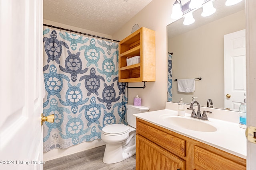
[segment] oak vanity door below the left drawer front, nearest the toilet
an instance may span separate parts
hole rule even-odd
[[[136,170],[185,170],[186,161],[136,135]]]

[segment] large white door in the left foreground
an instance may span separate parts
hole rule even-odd
[[[0,1],[0,169],[43,169],[42,0]]]

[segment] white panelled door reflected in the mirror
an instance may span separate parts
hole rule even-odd
[[[246,94],[245,29],[224,35],[224,79],[224,107],[239,110]]]

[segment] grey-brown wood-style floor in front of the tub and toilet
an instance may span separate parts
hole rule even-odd
[[[44,170],[135,170],[136,155],[115,164],[102,162],[106,145],[46,161]]]

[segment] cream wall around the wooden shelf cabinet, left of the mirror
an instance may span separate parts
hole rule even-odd
[[[112,35],[113,39],[122,40],[130,35],[132,26],[138,24],[156,32],[156,81],[146,82],[145,89],[128,89],[128,103],[133,98],[142,98],[142,105],[150,107],[150,111],[164,109],[167,101],[167,32],[166,25],[171,23],[172,5],[175,0],[152,0],[134,18],[128,21],[119,31]],[[143,86],[143,83],[128,83],[128,86]]]

